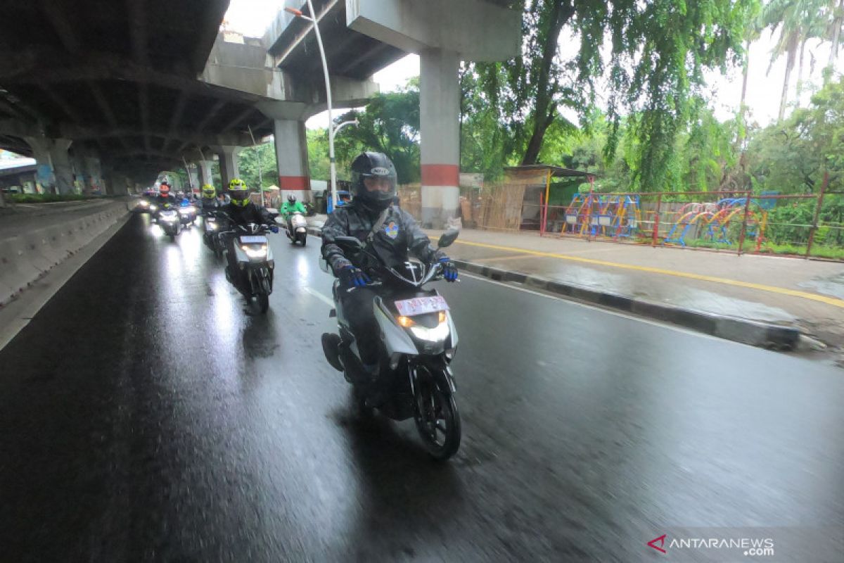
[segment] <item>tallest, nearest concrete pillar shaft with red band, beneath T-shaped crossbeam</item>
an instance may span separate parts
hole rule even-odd
[[[457,216],[460,190],[460,84],[457,53],[419,53],[422,225],[440,229]]]

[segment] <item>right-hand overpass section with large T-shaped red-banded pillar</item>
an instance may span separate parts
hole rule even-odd
[[[509,4],[506,0],[313,0],[333,80],[364,80],[408,52],[419,54],[425,224],[439,226],[457,212],[460,61],[506,60],[521,48],[521,14],[508,9]],[[288,0],[286,5],[310,13],[302,0]],[[263,37],[273,66],[294,83],[322,82],[312,25],[281,12]],[[291,145],[284,150],[300,148]]]

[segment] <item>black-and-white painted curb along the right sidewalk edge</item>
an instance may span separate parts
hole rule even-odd
[[[465,260],[455,258],[452,258],[452,262],[457,264],[458,268],[469,273],[484,276],[495,281],[524,284],[536,290],[564,295],[565,297],[609,307],[618,311],[633,313],[641,317],[651,317],[659,321],[671,322],[681,327],[691,328],[701,333],[733,340],[741,344],[749,344],[766,349],[792,350],[797,347],[800,339],[798,328],[783,327],[738,317],[726,317],[704,311],[694,311],[677,306],[637,300],[627,295],[592,290],[580,285],[566,284],[555,279],[541,278],[527,273],[512,272],[500,268],[491,268],[490,266],[466,262]]]

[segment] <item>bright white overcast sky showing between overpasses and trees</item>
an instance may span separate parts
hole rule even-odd
[[[284,8],[284,0],[231,0],[229,11],[225,19],[231,30],[240,31],[244,35],[262,36],[268,23],[275,14]],[[766,32],[759,41],[750,47],[750,74],[748,81],[747,104],[751,111],[751,119],[760,125],[767,125],[776,119],[779,108],[782,80],[785,77],[785,57],[780,57],[766,75],[770,61],[771,47],[774,44],[771,33]],[[330,38],[325,38],[330,41]],[[576,48],[571,41],[560,41],[560,53],[565,57],[571,48]],[[829,46],[818,46],[817,41],[810,41],[806,47],[806,61],[804,74],[814,84],[820,84],[821,69],[824,68],[829,57]],[[809,75],[809,53],[814,54],[814,73]],[[838,70],[841,71],[844,57],[839,57]],[[376,73],[373,77],[381,87],[381,92],[389,92],[403,86],[408,78],[419,75],[419,57],[408,55],[398,62]],[[738,108],[741,96],[741,69],[734,68],[727,76],[712,73],[710,89],[712,91],[711,105],[719,119],[727,119]],[[794,85],[797,84],[797,68],[792,73],[792,83],[789,89],[789,100],[793,100]],[[801,100],[803,106],[809,103],[810,93],[807,91]],[[790,111],[790,110],[789,110]],[[573,116],[569,116],[570,118]],[[326,127],[327,114],[323,113],[311,117],[308,127]]]

